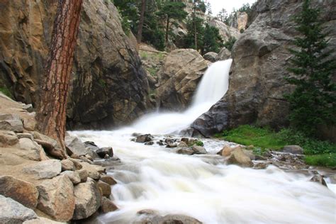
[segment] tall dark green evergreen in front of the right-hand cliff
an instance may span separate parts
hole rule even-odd
[[[318,125],[335,124],[336,115],[336,85],[332,82],[336,61],[332,50],[327,50],[327,33],[323,33],[319,16],[320,9],[313,9],[310,0],[303,1],[302,11],[293,16],[301,35],[293,42],[298,50],[289,49],[292,76],[286,77],[296,86],[286,95],[291,125],[308,135],[315,135]]]

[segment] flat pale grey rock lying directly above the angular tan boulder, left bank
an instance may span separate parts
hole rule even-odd
[[[56,177],[62,171],[60,160],[49,159],[35,164],[27,165],[23,168],[26,174],[32,174],[35,179],[50,179]]]

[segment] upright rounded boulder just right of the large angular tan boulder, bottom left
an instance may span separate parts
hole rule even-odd
[[[88,179],[86,183],[74,186],[74,196],[74,220],[88,218],[101,206],[101,194],[92,179]]]

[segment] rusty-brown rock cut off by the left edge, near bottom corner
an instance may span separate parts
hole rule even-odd
[[[15,177],[0,177],[0,194],[28,208],[35,208],[38,204],[38,189],[33,184]]]

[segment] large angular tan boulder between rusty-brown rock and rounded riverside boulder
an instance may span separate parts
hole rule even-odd
[[[45,180],[38,186],[38,209],[55,218],[67,222],[74,213],[74,186],[66,175]]]

